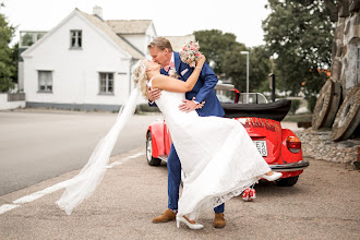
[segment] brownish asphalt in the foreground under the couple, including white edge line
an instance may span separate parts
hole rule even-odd
[[[254,202],[226,202],[225,228],[213,227],[208,211],[194,231],[152,224],[167,207],[167,169],[148,166],[140,147],[113,156],[101,184],[70,216],[55,204],[63,192],[56,187],[77,171],[0,196],[0,239],[360,239],[360,172],[309,160],[295,187],[260,182]]]

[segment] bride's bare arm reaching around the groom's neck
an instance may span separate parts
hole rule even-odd
[[[205,57],[202,55],[201,58],[196,61],[196,67],[189,76],[189,79],[187,80],[187,82],[166,75],[156,75],[152,82],[153,88],[159,88],[176,93],[187,93],[192,91],[192,88],[195,86],[197,82],[204,62],[205,62]]]

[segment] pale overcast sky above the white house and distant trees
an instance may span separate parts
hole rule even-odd
[[[104,20],[153,20],[157,35],[181,36],[201,29],[232,33],[253,47],[264,44],[262,21],[267,0],[0,0],[8,21],[19,31],[50,31],[75,8],[93,13],[103,8]]]

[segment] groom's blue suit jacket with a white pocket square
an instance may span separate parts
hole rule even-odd
[[[181,76],[182,81],[187,81],[191,73],[194,71],[194,68],[191,68],[189,64],[184,63],[180,59],[180,55],[177,51],[173,51],[175,68],[178,74]],[[161,69],[160,73],[168,75],[168,73]],[[203,69],[200,73],[199,80],[192,91],[185,93],[185,98],[192,100],[195,97],[195,100],[202,103],[205,100],[205,105],[201,109],[196,109],[199,116],[217,116],[223,117],[225,115],[220,101],[217,99],[214,92],[214,87],[217,84],[218,79],[209,65],[205,62]]]

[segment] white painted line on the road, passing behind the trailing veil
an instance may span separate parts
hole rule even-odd
[[[106,168],[112,168],[115,166],[119,166],[119,165],[122,165],[124,161],[127,160],[130,160],[130,159],[133,159],[133,158],[136,158],[136,157],[140,157],[144,155],[144,153],[137,153],[137,154],[134,154],[132,156],[129,156],[129,157],[125,157],[123,158],[122,160],[118,160],[118,161],[113,161],[112,164],[106,166]],[[35,193],[32,193],[29,195],[26,195],[26,196],[23,196],[23,197],[20,197],[19,200],[15,200],[13,201],[12,203],[13,204],[3,204],[0,206],[0,215],[3,214],[3,213],[7,213],[8,211],[11,211],[11,209],[14,209],[19,206],[21,206],[22,204],[25,204],[25,203],[31,203],[37,199],[40,199],[47,194],[50,194],[52,192],[56,192],[60,189],[64,189],[67,188],[70,183],[71,183],[72,179],[69,179],[69,180],[65,180],[65,181],[62,181],[62,182],[59,182],[55,185],[51,185],[49,188],[46,188],[41,191],[38,191],[38,192],[35,192]]]

